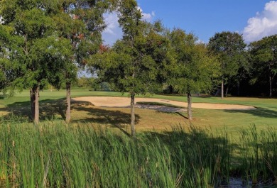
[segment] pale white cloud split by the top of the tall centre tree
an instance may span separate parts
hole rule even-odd
[[[152,21],[152,18],[155,16],[155,13],[153,11],[151,13],[143,13],[141,7],[138,7],[138,9],[141,11],[143,15],[143,20]],[[105,13],[104,21],[107,25],[106,29],[102,34],[104,44],[112,45],[116,42],[116,40],[122,37],[122,30],[119,27],[118,22],[119,18],[115,12]]]

